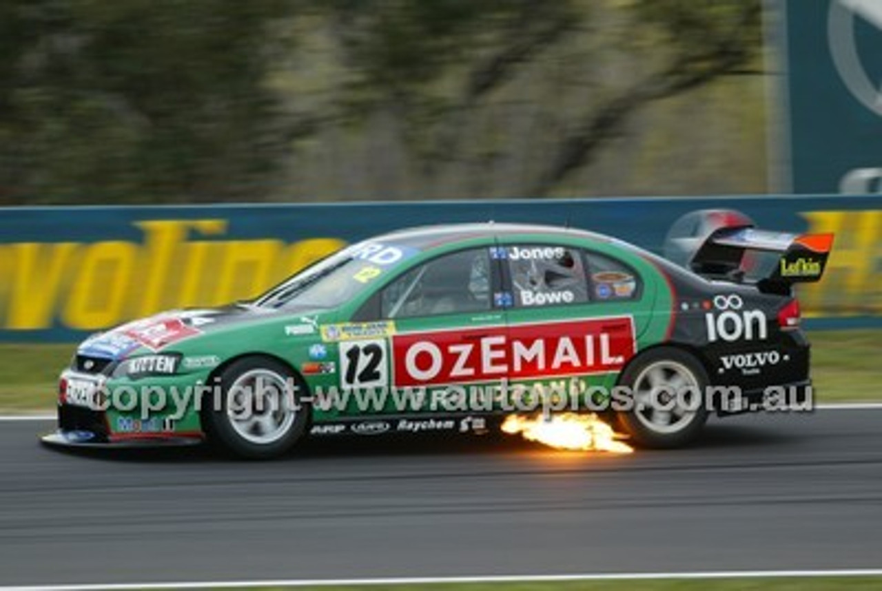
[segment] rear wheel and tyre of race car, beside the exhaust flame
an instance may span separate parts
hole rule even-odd
[[[638,445],[679,447],[698,437],[706,423],[707,373],[683,350],[647,351],[624,370],[619,383],[631,389],[634,401],[619,422]]]

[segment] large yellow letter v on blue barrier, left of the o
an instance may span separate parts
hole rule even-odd
[[[6,328],[33,330],[52,325],[59,288],[77,249],[77,243],[6,246],[11,261]]]

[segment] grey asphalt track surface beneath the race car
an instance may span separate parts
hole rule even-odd
[[[0,585],[882,565],[882,410],[712,420],[627,456],[517,438],[64,453],[0,422]]]

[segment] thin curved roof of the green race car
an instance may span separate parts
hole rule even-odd
[[[543,234],[549,237],[578,237],[604,243],[612,241],[609,236],[595,234],[594,232],[588,232],[579,228],[561,228],[559,226],[543,226],[540,224],[496,223],[492,221],[404,228],[383,236],[377,236],[374,240],[397,243],[402,246],[411,246],[422,250],[436,248],[469,238],[525,234]]]

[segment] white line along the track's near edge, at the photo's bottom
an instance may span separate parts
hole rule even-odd
[[[130,591],[133,589],[205,589],[243,587],[369,587],[377,585],[426,585],[451,583],[530,583],[579,580],[695,580],[695,579],[781,579],[786,577],[878,577],[882,568],[812,571],[709,571],[709,572],[609,572],[597,574],[478,575],[464,577],[390,577],[377,579],[281,579],[191,581],[177,583],[107,583],[101,585],[34,585],[0,587],[0,591]]]

